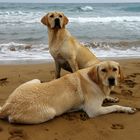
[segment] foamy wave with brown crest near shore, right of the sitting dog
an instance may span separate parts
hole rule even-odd
[[[140,58],[140,41],[91,42],[84,44],[97,57]]]

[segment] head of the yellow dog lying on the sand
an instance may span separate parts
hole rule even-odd
[[[116,86],[118,79],[123,80],[121,67],[115,61],[100,62],[89,71],[88,75],[95,83],[108,87]]]

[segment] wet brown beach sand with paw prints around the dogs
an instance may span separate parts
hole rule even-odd
[[[123,67],[125,80],[111,95],[119,97],[117,104],[140,110],[140,59],[117,61]],[[43,82],[54,79],[54,64],[0,65],[0,105],[17,86],[35,78]],[[39,125],[0,120],[0,140],[140,140],[140,112],[112,113],[93,119],[84,112],[75,112]]]

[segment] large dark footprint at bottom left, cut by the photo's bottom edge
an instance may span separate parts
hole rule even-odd
[[[26,133],[20,128],[10,128],[9,134],[11,135],[8,140],[27,140]]]

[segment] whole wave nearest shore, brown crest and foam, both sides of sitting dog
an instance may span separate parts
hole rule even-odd
[[[97,57],[140,57],[140,41],[83,43]],[[0,61],[53,60],[48,45],[9,42],[0,44]]]

